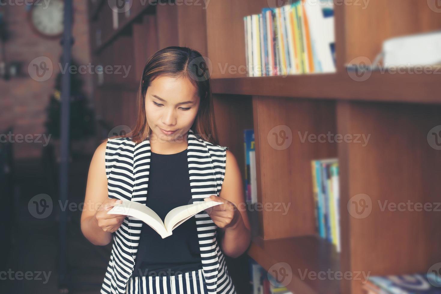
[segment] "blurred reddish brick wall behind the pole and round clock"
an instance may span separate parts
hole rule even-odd
[[[10,1],[9,1],[10,2]],[[9,3],[8,2],[8,3]],[[45,140],[40,134],[45,133],[45,108],[53,93],[56,75],[60,72],[58,65],[62,53],[60,40],[47,40],[35,34],[27,21],[28,7],[25,1],[16,1],[15,5],[3,7],[6,9],[6,21],[10,39],[5,46],[6,61],[18,60],[23,62],[23,77],[12,78],[9,81],[0,80],[0,132],[14,127],[15,158],[37,157],[41,155]],[[75,44],[72,56],[78,65],[90,63],[89,28],[87,18],[87,0],[75,0],[74,25],[72,28]],[[50,78],[38,82],[28,73],[28,65],[37,57],[48,57],[52,61],[53,72]],[[84,92],[91,100],[93,96],[92,78],[90,74],[81,74],[84,80]],[[20,137],[32,138],[19,142]],[[4,136],[2,137],[4,138]],[[46,138],[50,138],[46,136]],[[9,139],[8,139],[9,140]]]

